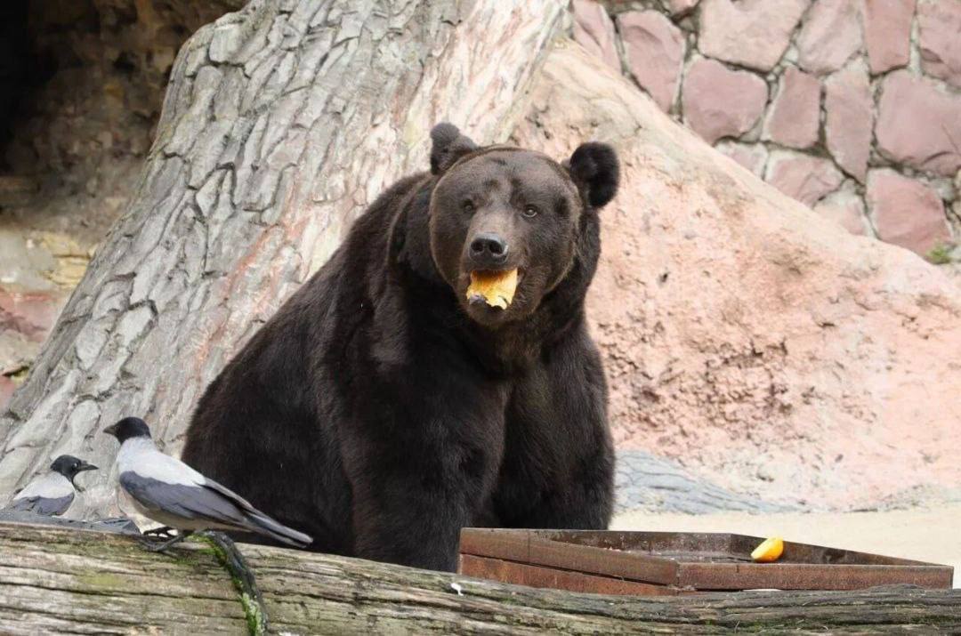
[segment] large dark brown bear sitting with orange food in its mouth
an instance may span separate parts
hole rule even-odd
[[[584,295],[619,169],[601,143],[431,139],[209,385],[184,459],[311,550],[454,570],[464,526],[610,520]]]

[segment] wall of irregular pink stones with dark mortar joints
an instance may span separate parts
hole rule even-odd
[[[574,0],[574,36],[849,232],[961,260],[961,0]]]

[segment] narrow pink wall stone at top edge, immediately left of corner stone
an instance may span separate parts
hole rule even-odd
[[[910,59],[915,0],[864,0],[864,39],[872,73],[904,66]]]

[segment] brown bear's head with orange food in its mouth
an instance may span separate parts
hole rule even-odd
[[[434,127],[431,140],[437,271],[480,325],[524,319],[584,256],[581,234],[597,229],[585,216],[614,197],[617,155],[603,143],[584,143],[558,163],[521,148],[479,148],[446,123]]]

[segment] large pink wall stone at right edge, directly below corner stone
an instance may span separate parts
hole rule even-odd
[[[912,167],[953,177],[961,167],[961,95],[895,71],[884,80],[875,135],[881,152]]]

